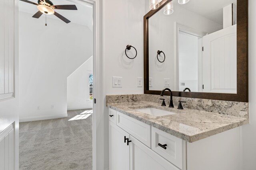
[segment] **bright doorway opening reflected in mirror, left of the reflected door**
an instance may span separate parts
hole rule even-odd
[[[189,88],[192,92],[202,92],[202,37],[184,30],[178,35],[178,86],[179,91]]]

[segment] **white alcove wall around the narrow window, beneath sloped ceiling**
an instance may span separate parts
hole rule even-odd
[[[68,110],[92,108],[92,100],[89,100],[89,73],[92,71],[93,57],[90,57],[68,76]]]

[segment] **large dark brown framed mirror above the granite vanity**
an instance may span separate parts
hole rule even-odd
[[[247,0],[162,0],[144,16],[144,92],[248,101],[247,9]]]

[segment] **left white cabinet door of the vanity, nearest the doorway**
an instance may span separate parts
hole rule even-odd
[[[109,168],[110,170],[129,170],[129,146],[124,137],[129,134],[109,121]]]

